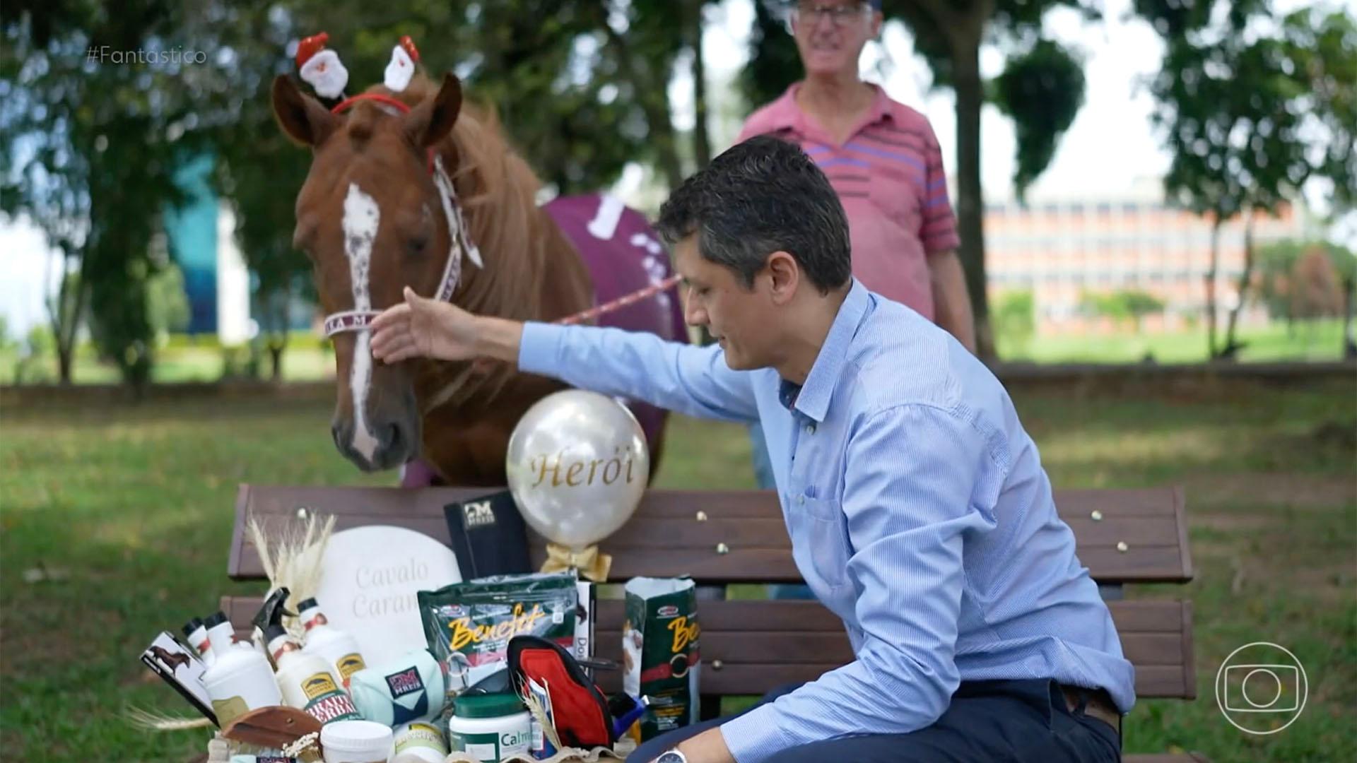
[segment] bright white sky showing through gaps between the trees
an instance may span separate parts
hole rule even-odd
[[[1303,5],[1301,0],[1277,0],[1281,11]],[[1357,10],[1357,0],[1333,3]],[[1163,45],[1153,30],[1126,15],[1130,0],[1103,0],[1106,20],[1084,23],[1073,11],[1048,14],[1048,33],[1077,49],[1086,62],[1087,95],[1075,124],[1065,134],[1056,157],[1033,189],[1034,197],[1045,196],[1121,196],[1133,186],[1158,182],[1168,166],[1168,156],[1149,125],[1153,102],[1141,80],[1159,65]],[[711,24],[704,33],[703,50],[710,79],[722,81],[744,64],[750,0],[723,0],[710,11]],[[878,76],[878,64],[886,60]],[[985,76],[1001,71],[1003,54],[995,49],[981,52]],[[955,170],[955,113],[950,92],[930,92],[931,73],[923,58],[915,56],[913,41],[900,24],[889,24],[879,45],[863,54],[867,77],[886,92],[923,111],[942,143],[947,172]],[[691,77],[676,77],[670,95],[680,126],[692,124]],[[729,140],[716,129],[714,137]],[[988,200],[1011,196],[1014,172],[1014,128],[995,107],[987,106],[981,124],[981,176]],[[714,147],[718,151],[723,144]],[[1314,198],[1322,204],[1322,198]],[[1357,228],[1357,227],[1354,227]],[[1345,239],[1357,239],[1357,229]],[[11,334],[26,331],[42,319],[42,278],[46,270],[43,239],[31,228],[0,223],[0,314],[9,322]]]

